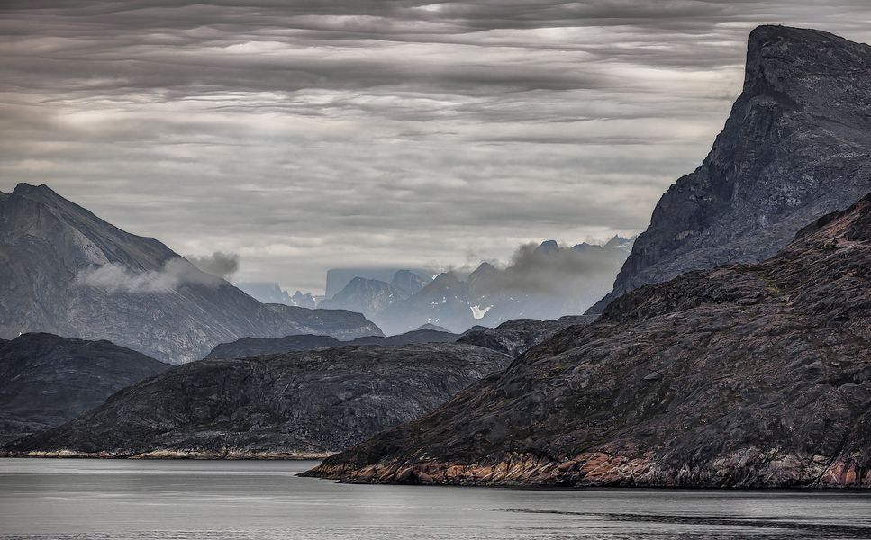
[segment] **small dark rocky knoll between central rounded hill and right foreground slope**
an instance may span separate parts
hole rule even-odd
[[[458,338],[457,342],[492,348],[494,351],[516,357],[563,329],[590,324],[595,317],[595,315],[577,315],[560,317],[558,320],[509,320],[494,329],[485,327],[469,329]]]

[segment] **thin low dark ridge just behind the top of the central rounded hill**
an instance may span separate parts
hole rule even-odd
[[[458,334],[431,329],[420,329],[397,336],[364,336],[346,342],[346,345],[413,345],[417,343],[453,343]],[[285,336],[284,338],[241,338],[232,343],[214,347],[205,358],[244,358],[246,356],[278,355],[295,351],[309,351],[322,347],[337,347],[340,342],[330,336]],[[476,344],[471,344],[476,345]]]

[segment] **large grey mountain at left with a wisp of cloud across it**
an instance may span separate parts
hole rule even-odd
[[[0,196],[0,338],[109,339],[172,364],[241,337],[380,335],[358,313],[262,304],[47,186]]]

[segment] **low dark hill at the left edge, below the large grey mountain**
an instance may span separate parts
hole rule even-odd
[[[52,334],[0,340],[0,442],[75,419],[168,368],[108,341]]]

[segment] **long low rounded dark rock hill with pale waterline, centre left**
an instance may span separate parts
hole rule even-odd
[[[203,360],[135,384],[68,424],[4,449],[10,455],[326,455],[433,410],[510,361],[456,344]]]

